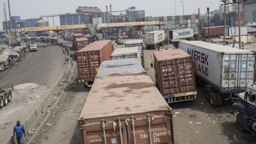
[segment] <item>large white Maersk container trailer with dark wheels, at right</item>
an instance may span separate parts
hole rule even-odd
[[[204,41],[178,45],[193,57],[196,81],[207,85],[205,98],[212,107],[220,107],[223,100],[237,100],[237,94],[254,84],[254,52]]]

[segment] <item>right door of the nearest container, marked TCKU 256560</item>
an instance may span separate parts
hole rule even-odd
[[[158,117],[155,119],[139,119],[134,122],[134,129],[132,120],[127,125],[128,143],[174,143],[172,135],[171,118]],[[150,125],[150,126],[149,126]]]

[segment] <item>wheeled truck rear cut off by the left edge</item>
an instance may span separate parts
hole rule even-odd
[[[0,88],[0,108],[5,107],[12,99],[11,88]]]

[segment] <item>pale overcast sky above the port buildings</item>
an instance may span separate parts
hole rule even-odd
[[[175,15],[175,0],[9,0],[11,4],[11,15],[19,15],[21,18],[37,18],[39,15],[63,14],[75,12],[78,6],[99,7],[105,11],[105,5],[112,5],[113,11],[123,10],[135,6],[136,9],[145,10],[146,16],[168,16]],[[3,3],[7,0],[0,0],[0,21],[3,17]],[[200,8],[201,13],[207,7],[211,10],[219,9],[220,0],[183,0],[185,14],[194,14]],[[109,7],[108,7],[109,9]],[[8,6],[7,6],[8,13]],[[180,0],[177,0],[177,15],[183,14],[183,7]],[[2,23],[0,24],[2,30]]]

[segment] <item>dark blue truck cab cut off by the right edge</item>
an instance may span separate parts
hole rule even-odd
[[[249,130],[256,133],[256,86],[248,87],[247,91],[238,94],[238,102],[232,104],[236,123],[242,132]]]

